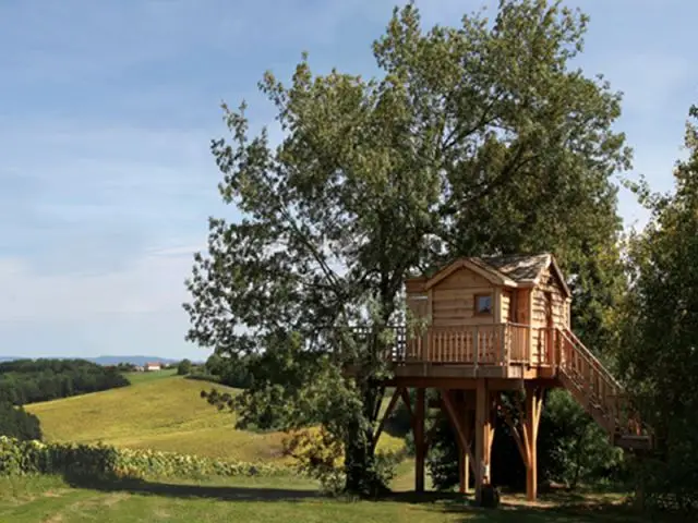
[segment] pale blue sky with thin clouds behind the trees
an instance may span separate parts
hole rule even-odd
[[[288,78],[303,50],[316,71],[371,73],[394,3],[2,0],[0,354],[205,357],[181,303],[207,217],[234,217],[208,151],[219,102],[269,123],[256,82]],[[418,4],[425,25],[455,25],[495,2]],[[591,16],[579,63],[625,93],[633,174],[669,190],[698,102],[698,3],[568,4]],[[621,211],[646,219],[625,193]]]

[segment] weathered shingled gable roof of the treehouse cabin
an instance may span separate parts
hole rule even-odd
[[[563,287],[563,291],[568,296],[571,295],[565,278],[555,262],[555,257],[550,253],[458,258],[436,271],[425,282],[424,288],[433,287],[461,267],[467,267],[480,273],[493,283],[508,287],[537,285],[540,283],[543,271],[550,267]]]

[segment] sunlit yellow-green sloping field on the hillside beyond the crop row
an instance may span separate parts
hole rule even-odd
[[[26,410],[41,422],[48,441],[103,441],[249,462],[282,460],[282,433],[237,430],[234,417],[201,399],[202,389],[236,389],[185,379],[173,372],[139,373],[119,389],[34,403]],[[402,441],[384,435],[380,448]]]

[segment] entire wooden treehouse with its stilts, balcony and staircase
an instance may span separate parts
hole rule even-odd
[[[414,321],[389,355],[394,376],[385,385],[395,393],[376,440],[402,399],[412,416],[418,491],[424,488],[430,439],[424,419],[433,406],[457,435],[460,489],[466,491],[472,473],[478,499],[490,483],[497,412],[526,465],[528,498],[535,499],[535,442],[545,389],[568,389],[615,445],[636,450],[651,445],[628,413],[622,387],[571,331],[571,293],[551,254],[461,258],[405,284]],[[438,391],[435,405],[425,404],[429,388]],[[410,404],[409,389],[417,390],[416,404]],[[510,390],[524,392],[518,409],[501,401],[502,392]]]

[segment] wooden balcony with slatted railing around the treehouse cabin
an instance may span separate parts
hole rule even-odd
[[[396,377],[550,378],[559,361],[556,329],[504,323],[398,332]]]

